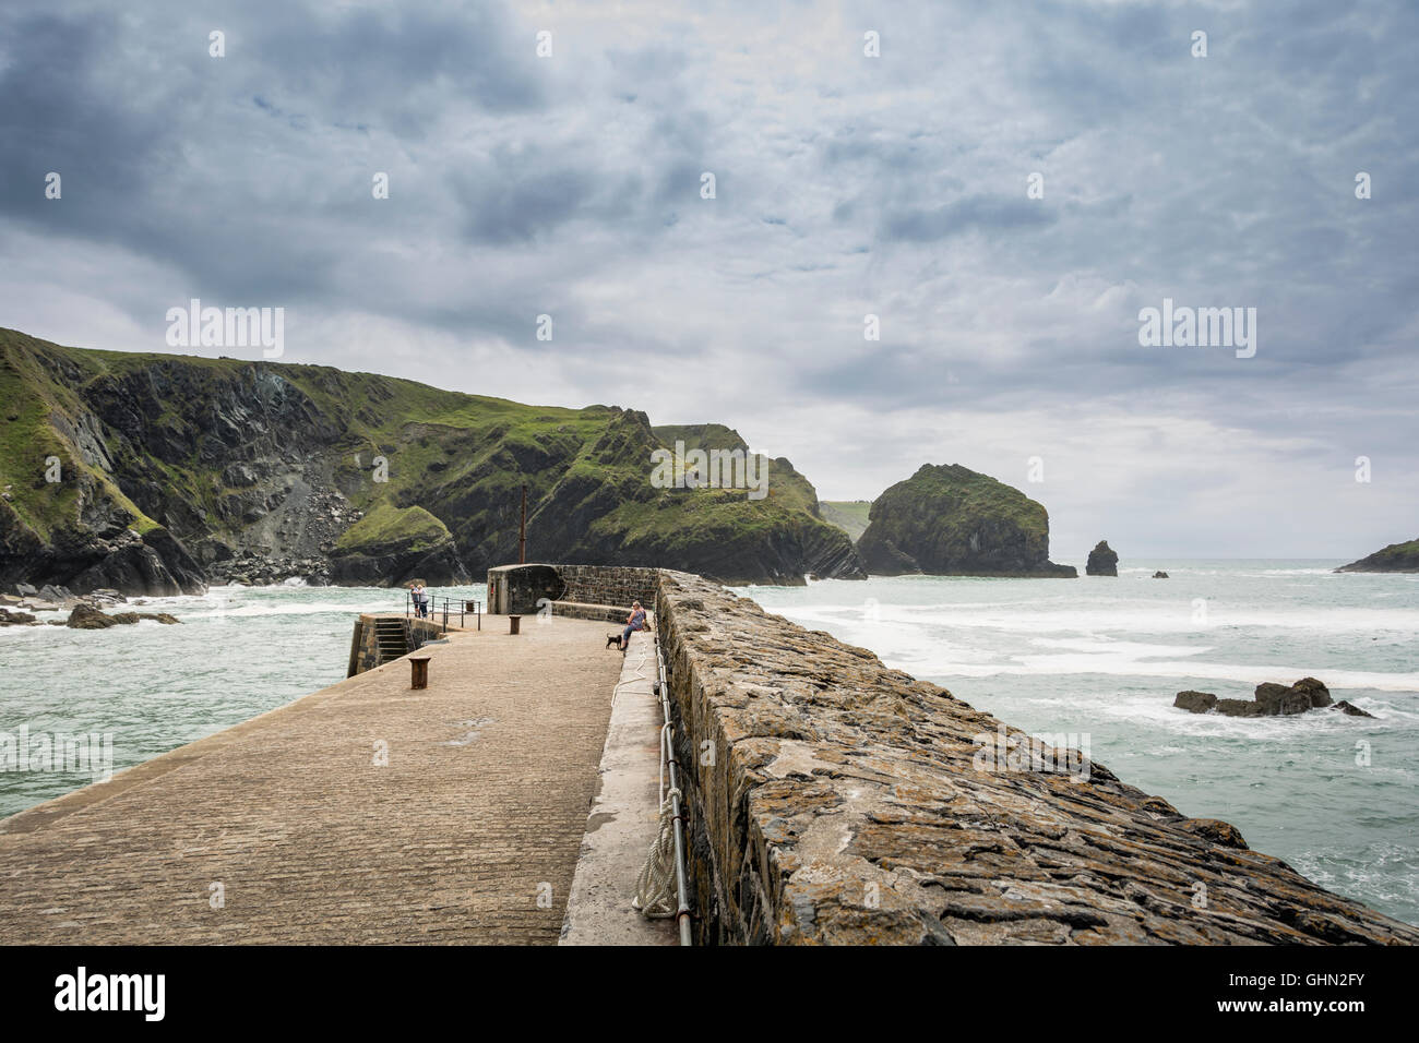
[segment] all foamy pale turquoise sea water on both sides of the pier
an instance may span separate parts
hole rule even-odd
[[[741,593],[1012,725],[1084,735],[1125,782],[1419,922],[1419,576],[1330,572],[1340,563],[1151,562],[1118,579],[910,576]],[[1149,579],[1155,568],[1171,579]],[[219,587],[149,602],[180,627],[7,627],[0,732],[109,732],[114,768],[139,763],[342,680],[355,614],[402,605],[402,592],[370,587]],[[1250,698],[1260,681],[1307,674],[1378,719],[1172,708],[1182,688]],[[0,773],[0,816],[88,780]]]

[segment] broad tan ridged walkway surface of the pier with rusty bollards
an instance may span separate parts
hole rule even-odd
[[[484,620],[0,822],[0,944],[555,944],[622,656]]]

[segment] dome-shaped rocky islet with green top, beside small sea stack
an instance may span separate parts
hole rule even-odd
[[[1050,522],[1023,492],[959,464],[922,464],[873,501],[857,553],[873,575],[1076,576],[1049,561]]]

